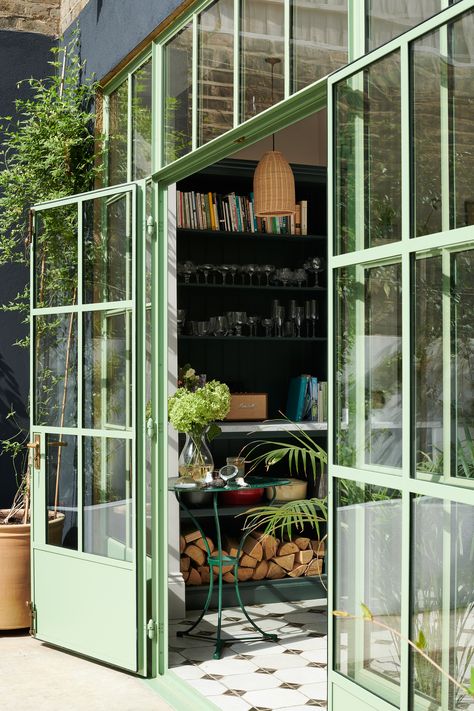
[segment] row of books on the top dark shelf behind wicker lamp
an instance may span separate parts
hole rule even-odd
[[[178,190],[178,228],[222,232],[263,232],[267,234],[308,234],[308,203],[301,200],[295,214],[288,217],[256,217],[253,193],[199,193]]]

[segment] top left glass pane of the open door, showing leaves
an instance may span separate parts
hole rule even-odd
[[[77,304],[77,205],[36,213],[35,306]]]

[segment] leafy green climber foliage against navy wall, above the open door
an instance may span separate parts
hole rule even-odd
[[[101,171],[97,160],[101,147],[93,134],[97,84],[84,79],[78,49],[77,32],[68,45],[52,49],[52,75],[26,80],[31,95],[16,100],[18,118],[1,120],[5,138],[0,151],[0,266],[27,262],[23,246],[32,205],[90,190]],[[65,221],[52,226],[53,235],[46,218],[38,250],[51,246],[53,236],[55,247],[63,257],[67,254],[75,224],[70,215],[63,217]],[[24,290],[3,308],[26,312],[28,298]]]

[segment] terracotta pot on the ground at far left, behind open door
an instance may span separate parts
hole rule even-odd
[[[0,515],[6,515],[2,509]],[[64,515],[49,522],[49,540],[60,545]],[[27,524],[0,524],[0,630],[30,626],[30,529]]]

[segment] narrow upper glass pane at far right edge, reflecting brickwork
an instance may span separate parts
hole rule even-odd
[[[474,12],[450,26],[451,227],[474,224]]]

